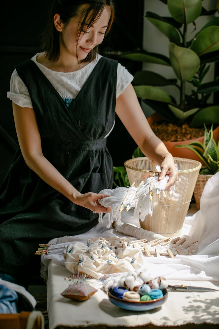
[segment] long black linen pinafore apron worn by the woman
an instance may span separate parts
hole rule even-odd
[[[115,120],[117,65],[101,57],[69,107],[32,60],[15,66],[31,97],[43,155],[81,193],[112,188],[104,136]],[[40,262],[34,255],[39,243],[84,233],[97,223],[97,214],[40,179],[17,148],[0,188],[1,273],[27,276]]]

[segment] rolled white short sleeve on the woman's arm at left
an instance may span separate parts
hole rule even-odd
[[[21,107],[33,108],[28,89],[19,77],[16,69],[11,74],[10,91],[7,92],[7,97]]]

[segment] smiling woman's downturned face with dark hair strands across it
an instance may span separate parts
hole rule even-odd
[[[81,32],[77,44],[77,57],[79,61],[85,59],[91,49],[103,41],[110,19],[110,13],[110,7],[106,6],[93,26],[88,30],[86,25],[84,27],[82,26],[83,32]],[[76,42],[80,25],[80,18],[76,16],[71,18],[68,25],[62,29],[60,36],[61,54],[62,52],[67,52],[76,57]]]

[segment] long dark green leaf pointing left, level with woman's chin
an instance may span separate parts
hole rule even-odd
[[[121,58],[127,58],[132,61],[155,63],[170,66],[168,57],[157,53],[132,53],[120,55]]]

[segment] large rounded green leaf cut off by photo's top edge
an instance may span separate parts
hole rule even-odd
[[[202,12],[201,0],[167,0],[167,6],[171,16],[184,24],[193,22]]]

